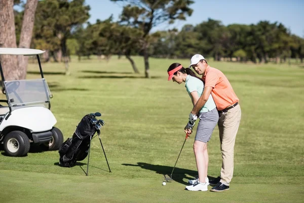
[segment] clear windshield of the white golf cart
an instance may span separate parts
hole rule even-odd
[[[47,81],[35,80],[11,80],[5,81],[6,95],[12,111],[25,106],[43,106],[48,108],[52,94]]]

